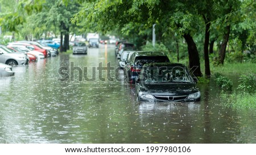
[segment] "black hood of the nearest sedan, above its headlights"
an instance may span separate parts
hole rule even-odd
[[[196,92],[197,89],[194,83],[144,83],[141,91],[152,95],[188,95]]]

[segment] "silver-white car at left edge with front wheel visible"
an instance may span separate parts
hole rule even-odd
[[[10,66],[27,65],[29,58],[24,53],[14,53],[0,45],[0,62]]]

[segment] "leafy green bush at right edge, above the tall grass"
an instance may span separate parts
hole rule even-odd
[[[256,77],[254,74],[242,74],[238,81],[237,89],[249,94],[256,93]]]

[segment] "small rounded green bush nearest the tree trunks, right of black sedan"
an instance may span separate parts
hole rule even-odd
[[[220,73],[214,74],[214,81],[216,82],[217,86],[220,87],[222,90],[232,90],[233,82],[226,76],[223,76]]]

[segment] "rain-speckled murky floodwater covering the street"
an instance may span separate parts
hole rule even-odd
[[[122,70],[97,69],[118,66],[114,45],[88,50],[0,77],[0,143],[256,143],[255,110],[222,107],[212,82],[200,102],[138,103]]]

